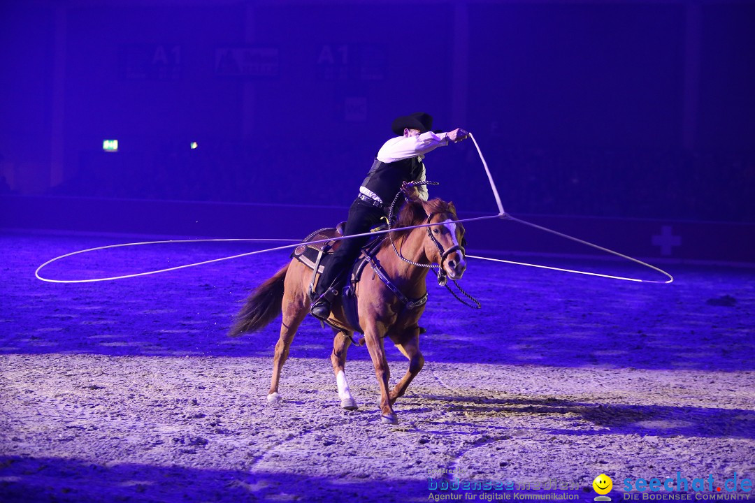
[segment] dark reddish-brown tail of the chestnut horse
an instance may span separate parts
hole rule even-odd
[[[273,278],[260,284],[248,296],[244,307],[236,314],[233,327],[228,331],[232,337],[240,336],[242,333],[257,332],[267,327],[276,316],[281,314],[281,303],[283,302],[283,284],[285,282],[288,265],[276,272]]]

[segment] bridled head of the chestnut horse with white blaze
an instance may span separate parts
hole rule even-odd
[[[399,212],[399,227],[410,225],[437,224],[414,229],[424,235],[424,256],[430,262],[439,264],[441,277],[458,280],[467,270],[464,257],[464,225],[458,220],[453,203],[441,199],[411,201]]]

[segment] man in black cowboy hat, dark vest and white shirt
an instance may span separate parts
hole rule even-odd
[[[439,146],[458,143],[468,136],[467,131],[461,128],[448,133],[433,131],[433,118],[424,112],[396,118],[391,129],[397,136],[388,140],[377,152],[367,177],[359,187],[359,195],[349,209],[344,236],[369,232],[381,220],[387,219],[390,201],[399,190],[408,198],[427,201],[425,186],[418,188],[410,183],[425,181],[424,156]],[[332,302],[344,284],[350,266],[368,241],[368,236],[342,241],[331,260],[325,263],[313,292],[310,313],[314,317],[323,321],[328,319]]]

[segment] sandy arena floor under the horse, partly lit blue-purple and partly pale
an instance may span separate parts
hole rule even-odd
[[[387,426],[365,348],[350,348],[360,408],[347,412],[331,331],[305,321],[285,401],[270,406],[279,322],[225,335],[286,253],[104,283],[34,278],[54,256],[123,241],[0,235],[0,501],[593,501],[599,474],[618,501],[625,479],[755,479],[753,269],[670,265],[676,281],[656,285],[470,260],[461,284],[483,308],[428,285],[427,363],[396,403],[399,425]],[[45,274],[117,275],[251,249],[131,247]],[[395,382],[406,362],[388,351]],[[577,489],[432,490],[454,483],[444,470]],[[716,494],[750,495],[738,487]]]

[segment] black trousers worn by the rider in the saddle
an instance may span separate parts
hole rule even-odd
[[[344,235],[351,236],[369,232],[371,228],[381,222],[381,217],[383,216],[386,216],[386,214],[381,208],[365,203],[361,199],[356,199],[349,208],[349,219],[346,221]],[[340,289],[346,283],[350,268],[359,256],[359,250],[368,241],[370,241],[370,236],[341,241],[340,247],[335,250],[330,261],[322,271],[319,281],[317,281],[317,287],[315,288],[316,296],[321,296],[331,286]]]

